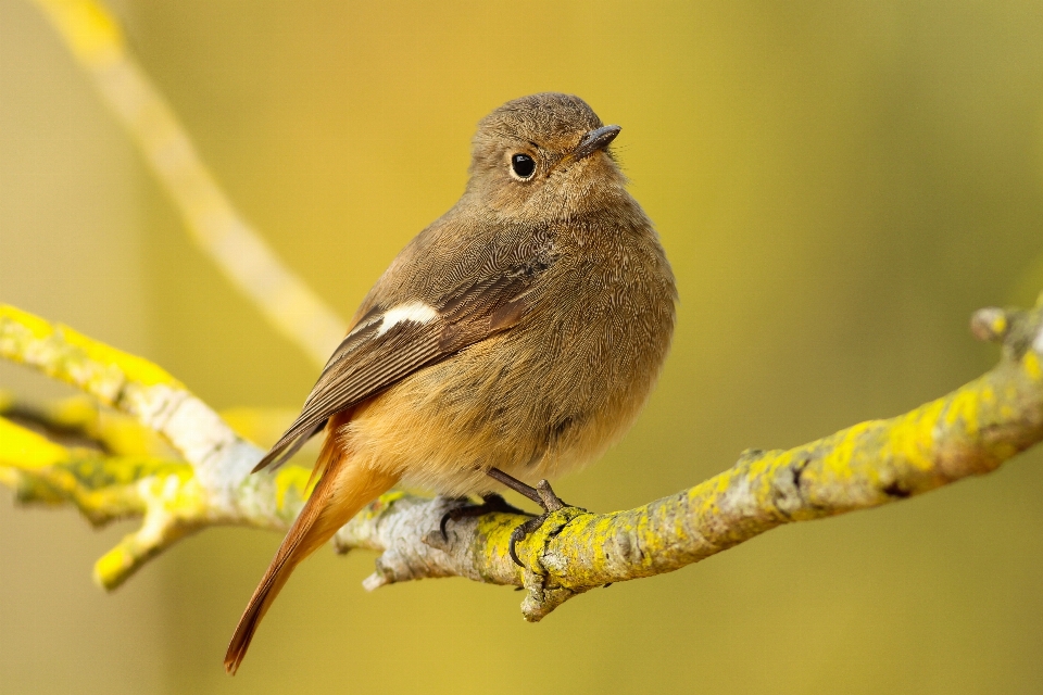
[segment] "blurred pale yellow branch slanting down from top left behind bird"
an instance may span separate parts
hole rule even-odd
[[[177,116],[128,53],[120,26],[92,0],[35,0],[141,151],[203,253],[319,367],[348,332],[343,320],[242,219]]]

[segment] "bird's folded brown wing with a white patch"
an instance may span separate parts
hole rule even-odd
[[[460,283],[437,302],[370,308],[334,351],[297,420],[253,470],[285,463],[332,415],[516,325],[548,267],[531,262],[508,265]]]

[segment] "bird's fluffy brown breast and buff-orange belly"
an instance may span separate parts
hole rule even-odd
[[[447,493],[491,466],[536,482],[602,453],[665,358],[674,282],[654,232],[555,243],[519,323],[411,375],[348,426],[353,448]]]

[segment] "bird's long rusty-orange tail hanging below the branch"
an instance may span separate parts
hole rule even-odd
[[[352,457],[337,439],[332,432],[326,438],[316,463],[322,477],[239,619],[225,654],[225,671],[230,674],[239,668],[257,624],[293,568],[331,539],[366,504],[398,482],[397,477],[373,470]]]

